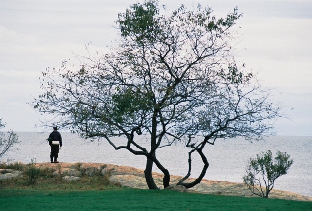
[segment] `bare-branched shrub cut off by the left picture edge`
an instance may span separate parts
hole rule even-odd
[[[2,123],[2,118],[0,118],[0,130],[5,127],[6,123]],[[12,149],[14,144],[20,143],[18,136],[12,130],[5,132],[0,132],[0,158],[10,149]]]

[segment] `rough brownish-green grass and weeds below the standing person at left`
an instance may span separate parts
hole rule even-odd
[[[107,190],[121,187],[119,183],[109,181],[112,169],[107,169],[103,175],[101,174],[106,165],[99,168],[88,168],[83,167],[82,163],[73,164],[70,169],[83,172],[78,181],[64,180],[63,176],[67,175],[68,172],[64,171],[61,164],[55,167],[38,167],[35,159],[32,159],[29,164],[21,162],[1,163],[0,168],[23,171],[19,177],[0,180],[2,190]]]

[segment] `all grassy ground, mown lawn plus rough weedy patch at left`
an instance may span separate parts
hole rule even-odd
[[[108,174],[64,181],[54,171],[41,168],[35,184],[25,173],[0,180],[0,211],[312,211],[312,202],[131,189]]]

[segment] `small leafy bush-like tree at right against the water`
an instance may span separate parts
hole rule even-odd
[[[269,150],[257,154],[255,159],[250,158],[246,168],[247,175],[243,177],[248,189],[255,195],[268,198],[275,180],[287,174],[287,170],[292,165],[293,160],[289,160],[289,157],[286,152],[277,151],[273,163],[272,152]]]

